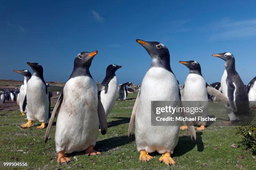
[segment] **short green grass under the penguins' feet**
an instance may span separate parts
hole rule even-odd
[[[137,94],[129,94],[135,98]],[[95,149],[101,152],[98,156],[86,156],[83,152],[68,154],[72,162],[64,165],[57,164],[54,133],[51,130],[49,141],[44,143],[46,129],[37,130],[39,122],[33,127],[21,129],[19,125],[25,123],[20,111],[0,112],[0,162],[27,162],[28,167],[20,169],[168,169],[159,163],[160,155],[151,153],[154,159],[149,163],[138,161],[139,153],[136,149],[134,135],[127,137],[127,130],[131,111],[135,99],[116,101],[108,116],[112,127],[106,135],[101,135]],[[53,105],[52,105],[53,107]],[[214,113],[214,114],[213,114]],[[222,103],[210,103],[208,115],[220,116],[227,119]],[[222,121],[222,120],[221,120]],[[255,157],[242,146],[231,148],[232,144],[239,144],[241,136],[234,133],[235,127],[224,127],[216,122],[215,126],[197,132],[197,141],[190,140],[188,132],[180,132],[179,143],[172,155],[177,165],[173,169],[255,169]]]

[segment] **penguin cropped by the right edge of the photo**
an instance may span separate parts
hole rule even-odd
[[[248,93],[249,107],[256,109],[256,76],[248,83],[246,90]]]

